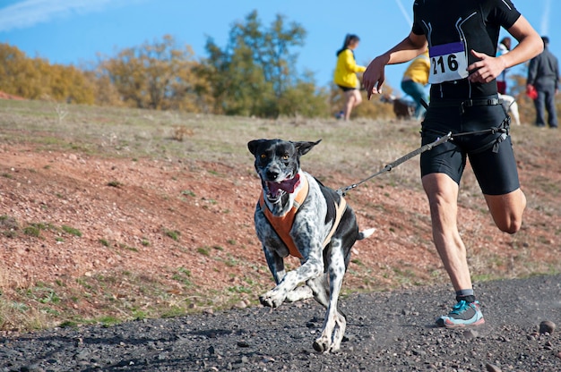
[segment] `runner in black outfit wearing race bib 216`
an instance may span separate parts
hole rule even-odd
[[[460,181],[469,159],[496,226],[508,233],[520,230],[526,197],[520,188],[509,121],[498,99],[496,77],[506,68],[539,55],[543,43],[512,0],[417,0],[413,14],[409,36],[375,57],[363,74],[363,83],[370,99],[381,92],[387,64],[410,61],[428,47],[430,105],[421,123],[421,144],[448,132],[454,136],[420,158],[433,241],[457,301],[447,315],[436,319],[436,325],[481,325],[485,320],[458,230]],[[501,28],[518,45],[496,57]],[[495,131],[497,125],[504,131]]]

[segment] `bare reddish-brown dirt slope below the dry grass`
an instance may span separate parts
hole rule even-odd
[[[540,186],[527,191],[522,231],[514,236],[495,228],[480,193],[462,191],[459,219],[476,282],[559,271],[561,217],[550,206],[558,206],[561,175],[555,148],[548,151],[551,156],[521,156],[522,184]],[[325,183],[333,188],[357,181],[310,168],[329,175]],[[0,144],[3,299],[39,309],[47,324],[256,304],[272,286],[253,224],[259,192],[249,163],[108,158]],[[447,283],[419,188],[374,181],[347,199],[360,227],[376,232],[353,249],[345,289]],[[22,325],[4,319],[3,328]]]

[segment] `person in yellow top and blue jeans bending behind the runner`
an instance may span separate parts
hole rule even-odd
[[[430,72],[430,59],[428,58],[428,49],[422,55],[410,63],[407,70],[403,73],[401,80],[401,90],[410,95],[415,101],[415,118],[422,119],[427,111],[421,105],[421,99],[428,103],[427,93],[425,86],[428,84],[428,72]]]

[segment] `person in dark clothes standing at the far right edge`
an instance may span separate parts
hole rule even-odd
[[[559,62],[557,57],[549,52],[549,38],[543,37],[543,52],[532,58],[528,68],[528,89],[535,89],[538,97],[534,99],[536,106],[536,125],[546,126],[545,109],[548,110],[548,124],[550,128],[557,128],[557,113],[555,96],[559,92]]]

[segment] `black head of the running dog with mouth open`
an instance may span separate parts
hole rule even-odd
[[[321,139],[316,142],[254,139],[247,143],[269,201],[276,203],[283,195],[294,192],[299,182],[300,156],[320,142]]]

